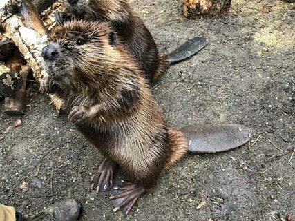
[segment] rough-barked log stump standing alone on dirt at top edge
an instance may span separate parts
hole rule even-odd
[[[231,0],[182,0],[182,6],[188,19],[209,19],[227,13]]]

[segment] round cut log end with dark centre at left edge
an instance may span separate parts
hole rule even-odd
[[[14,95],[22,84],[21,75],[0,62],[0,97]]]

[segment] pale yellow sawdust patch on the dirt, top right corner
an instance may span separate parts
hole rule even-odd
[[[287,10],[294,10],[293,4],[283,1],[257,3],[247,0],[234,0],[231,13],[248,15],[242,20],[251,26],[260,26],[254,33],[254,41],[267,48],[293,48],[295,46],[295,22],[285,23]],[[267,12],[262,10],[267,8]]]

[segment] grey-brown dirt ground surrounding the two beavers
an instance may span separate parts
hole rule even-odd
[[[153,87],[169,125],[245,124],[254,131],[250,144],[186,155],[124,217],[113,213],[109,192],[89,191],[99,151],[34,90],[22,126],[0,109],[0,202],[32,215],[77,198],[82,220],[295,219],[295,6],[234,0],[225,17],[191,21],[180,0],[131,4],[166,53],[191,37],[209,40]]]

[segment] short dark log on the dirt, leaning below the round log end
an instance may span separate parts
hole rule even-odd
[[[26,110],[26,79],[30,73],[30,66],[21,66],[20,75],[23,79],[21,90],[18,90],[15,95],[5,98],[4,111],[8,115],[24,115]]]

